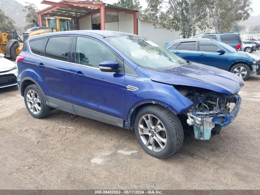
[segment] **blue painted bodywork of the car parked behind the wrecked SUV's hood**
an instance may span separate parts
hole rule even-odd
[[[247,64],[250,69],[252,69],[252,64],[256,60],[256,56],[253,56],[247,52],[243,51],[235,51],[233,48],[230,49],[230,46],[228,46],[225,43],[216,41],[214,39],[177,39],[175,41],[171,41],[166,44],[164,48],[170,47],[172,44],[176,42],[182,42],[182,41],[208,41],[211,43],[214,43],[222,48],[224,48],[227,53],[218,53],[218,52],[208,52],[208,51],[199,51],[199,48],[196,51],[186,51],[186,50],[169,50],[172,53],[179,53],[176,54],[179,57],[186,59],[188,61],[192,62],[198,62],[201,64],[213,66],[216,68],[220,68],[222,70],[229,71],[230,67],[234,65],[235,63],[245,63]],[[198,53],[197,59],[194,59],[194,56],[191,54]]]

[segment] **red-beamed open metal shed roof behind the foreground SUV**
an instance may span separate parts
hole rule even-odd
[[[104,3],[104,2],[92,2],[92,1],[74,1],[74,0],[62,0],[58,3],[62,3],[62,4],[66,4],[66,2],[70,2],[70,3],[73,3],[73,4],[70,4],[71,6],[76,6],[79,8],[79,10],[73,10],[71,8],[65,8],[65,7],[58,7],[57,9],[53,10],[53,11],[50,11],[48,13],[50,13],[51,15],[56,15],[56,16],[63,16],[63,17],[68,17],[68,15],[66,14],[71,14],[72,12],[75,13],[74,18],[77,18],[79,16],[82,16],[82,15],[85,15],[85,14],[88,14],[90,12],[95,12],[96,11],[99,11],[99,8],[98,7],[91,7],[89,6],[89,4],[93,4],[93,5],[106,5],[106,9],[114,9],[114,10],[124,10],[124,11],[135,11],[135,12],[138,12],[138,10],[132,10],[132,9],[128,9],[128,8],[125,8],[125,7],[120,7],[120,6],[115,6],[115,5],[111,5],[111,4],[108,4],[108,3]],[[43,2],[42,2],[43,3]],[[55,2],[54,2],[55,3]],[[75,4],[74,4],[75,3]],[[82,6],[82,3],[86,3],[88,4],[88,6]],[[79,5],[80,4],[80,5]],[[49,6],[43,10],[40,10],[37,12],[38,13],[42,13],[44,12],[45,10],[48,10],[50,8],[54,7],[54,5],[52,6]],[[82,8],[86,8],[86,10],[82,9]],[[76,9],[76,8],[75,8]],[[62,15],[63,14],[63,15]],[[71,16],[70,16],[71,18]]]

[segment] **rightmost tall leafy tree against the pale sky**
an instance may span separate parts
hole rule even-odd
[[[231,30],[232,24],[246,20],[251,12],[251,0],[209,0],[206,20],[215,33]]]

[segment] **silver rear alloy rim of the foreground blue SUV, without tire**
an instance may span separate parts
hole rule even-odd
[[[39,114],[41,111],[41,100],[34,90],[29,90],[26,94],[26,102],[30,111]]]

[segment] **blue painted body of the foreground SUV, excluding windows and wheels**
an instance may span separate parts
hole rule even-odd
[[[73,53],[71,63],[30,53],[28,49],[30,40],[53,35],[81,35],[97,39],[110,47],[124,62],[136,70],[139,76],[102,72],[98,68],[74,64]],[[147,70],[132,62],[104,39],[108,36],[121,35],[131,34],[91,30],[55,32],[30,37],[20,54],[25,56],[25,59],[18,63],[18,86],[20,86],[22,78],[33,78],[45,95],[74,106],[123,119],[125,127],[130,128],[130,116],[134,109],[142,104],[159,104],[174,114],[182,112],[193,104],[173,85],[201,87],[227,94],[238,92],[240,86],[244,85],[243,80],[236,75],[198,63],[166,71]],[[69,49],[68,56],[70,54]],[[37,66],[41,63],[44,67]],[[136,91],[127,90],[128,85],[138,89]]]

